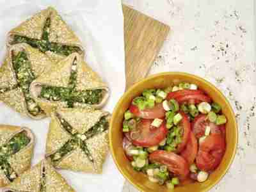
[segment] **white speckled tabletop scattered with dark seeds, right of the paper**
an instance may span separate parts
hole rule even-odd
[[[239,125],[237,155],[227,175],[211,192],[255,191],[256,65],[253,1],[123,2],[171,26],[172,32],[150,74],[166,71],[196,74],[220,88],[232,104]],[[128,191],[137,190],[126,183],[124,192]]]

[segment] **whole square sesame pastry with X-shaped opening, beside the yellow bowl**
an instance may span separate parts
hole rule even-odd
[[[46,157],[55,168],[102,173],[111,115],[93,108],[58,109],[51,115]]]

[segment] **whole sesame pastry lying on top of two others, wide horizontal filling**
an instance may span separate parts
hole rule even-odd
[[[77,53],[35,79],[30,92],[47,115],[58,108],[102,108],[109,97],[106,83]]]

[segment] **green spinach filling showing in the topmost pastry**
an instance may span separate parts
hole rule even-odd
[[[51,26],[51,19],[48,17],[45,20],[41,40],[28,38],[26,36],[13,35],[13,40],[11,44],[13,45],[13,44],[26,43],[31,45],[31,47],[39,49],[41,52],[52,51],[56,54],[61,54],[63,56],[68,56],[73,52],[82,52],[81,49],[77,46],[62,45],[62,44],[50,42],[49,41],[50,26]]]

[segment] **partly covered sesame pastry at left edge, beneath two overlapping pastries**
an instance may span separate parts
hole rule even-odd
[[[29,93],[31,82],[53,65],[51,59],[28,44],[12,45],[0,68],[0,100],[22,115],[45,117]]]

